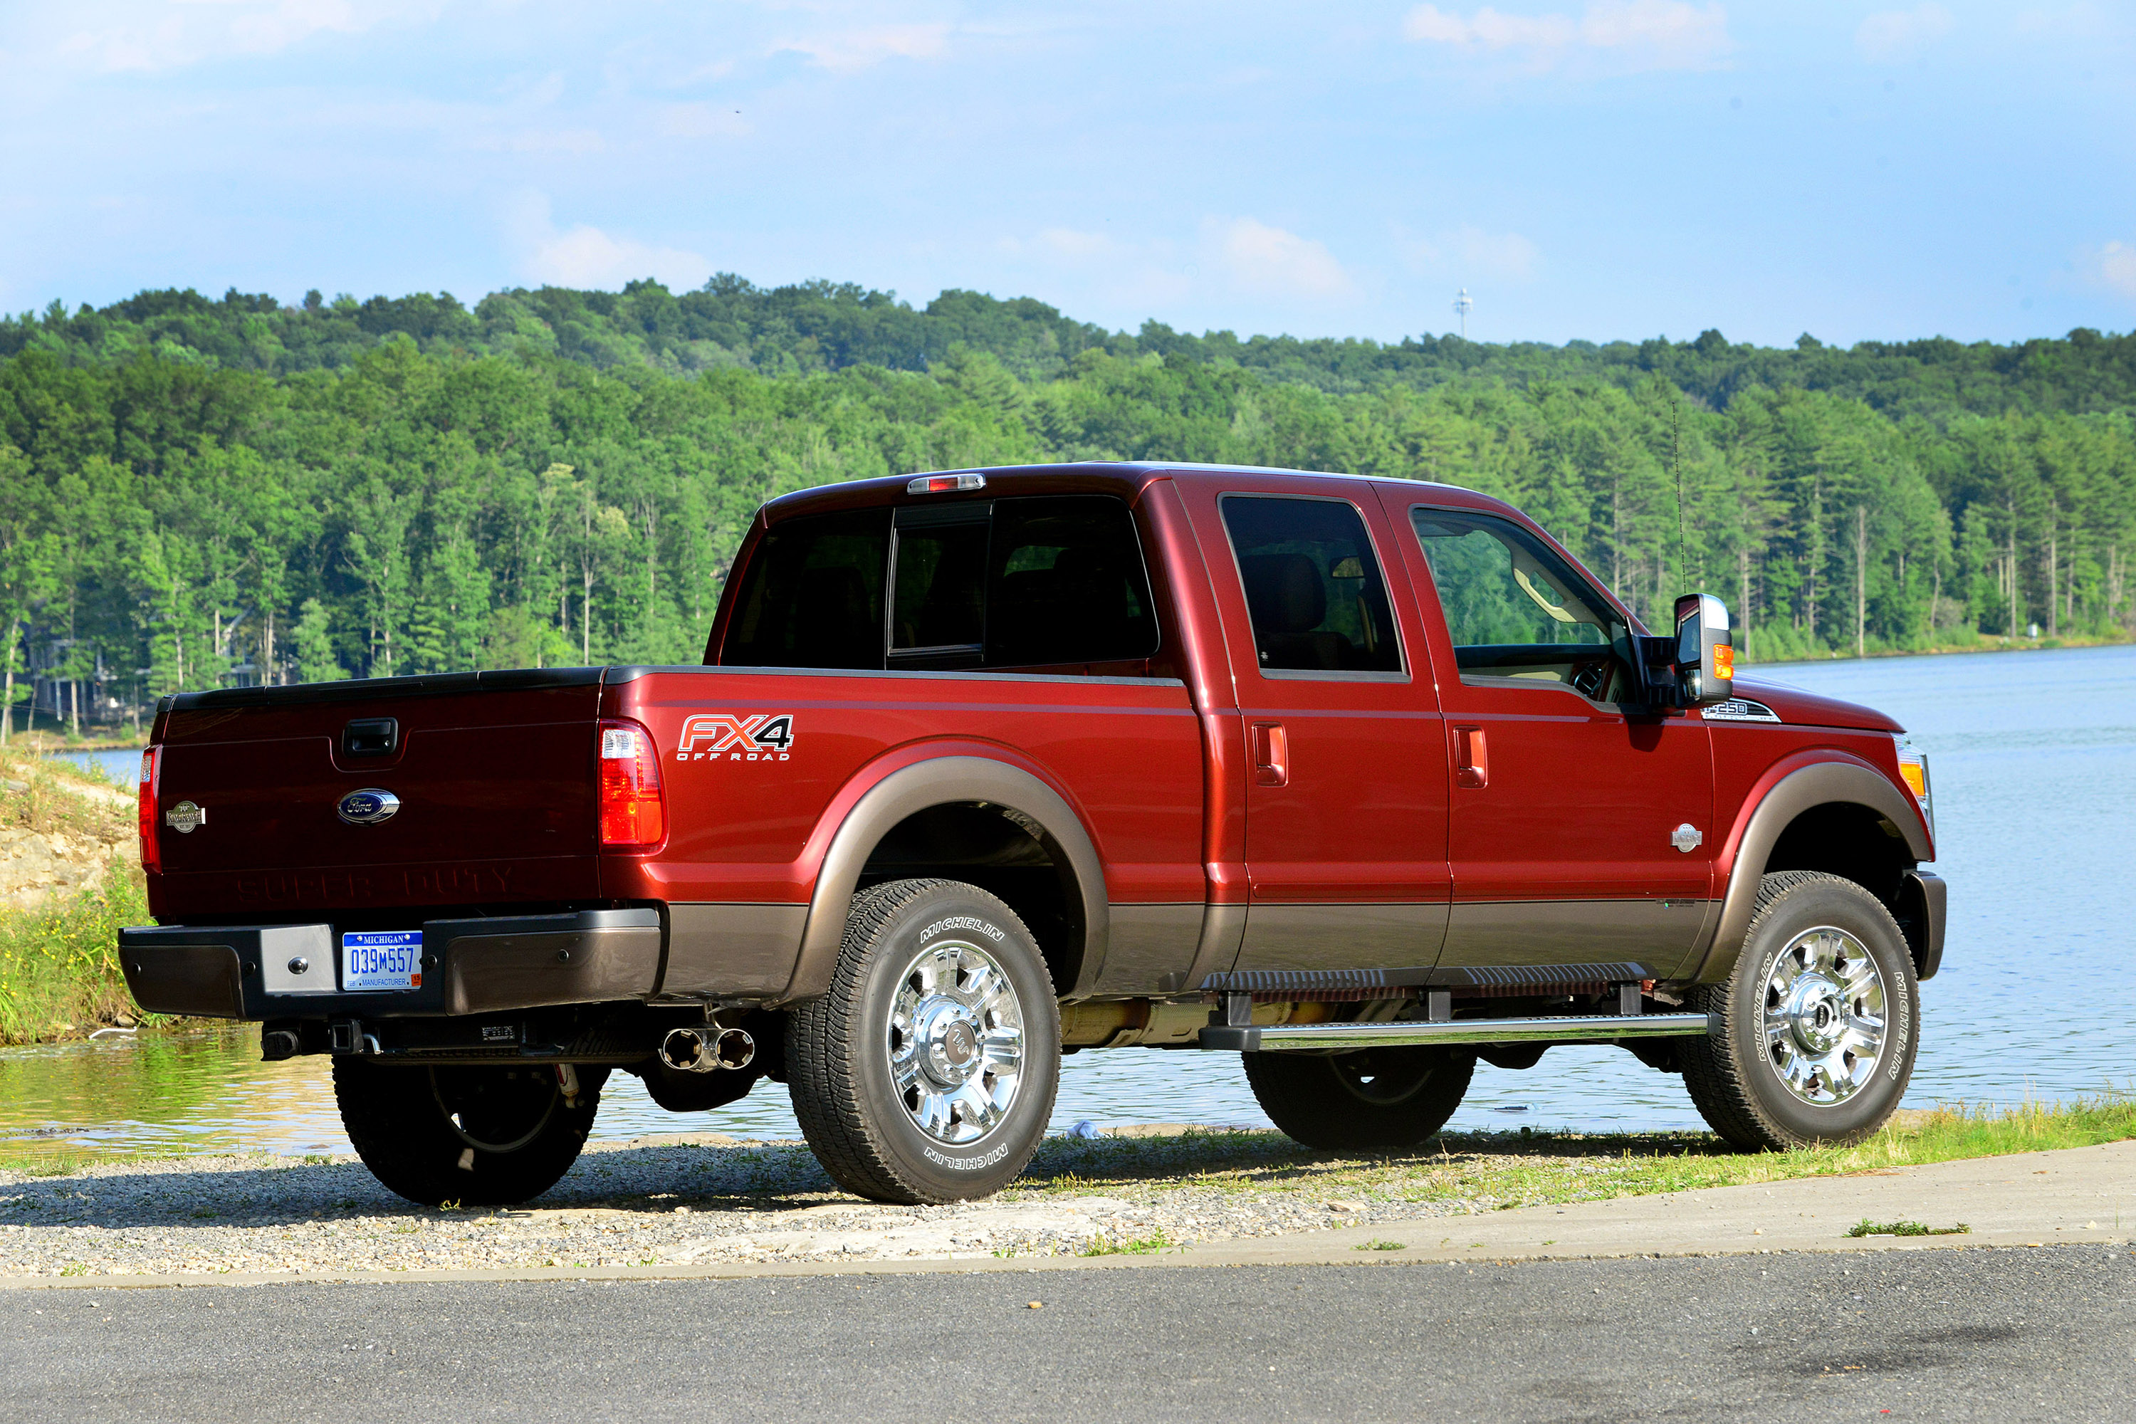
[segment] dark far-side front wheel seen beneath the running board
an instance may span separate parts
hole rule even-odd
[[[1476,1055],[1452,1048],[1245,1055],[1260,1110],[1324,1153],[1395,1153],[1429,1140],[1474,1072]]]

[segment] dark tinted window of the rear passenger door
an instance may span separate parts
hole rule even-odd
[[[1224,495],[1222,510],[1262,670],[1401,670],[1380,559],[1354,506]]]

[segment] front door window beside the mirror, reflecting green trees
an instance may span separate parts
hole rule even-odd
[[[1608,700],[1630,628],[1566,559],[1521,525],[1410,510],[1461,677],[1572,683]]]

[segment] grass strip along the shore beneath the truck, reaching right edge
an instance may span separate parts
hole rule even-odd
[[[2136,1097],[2108,1093],[2016,1108],[1942,1106],[1905,1112],[1854,1146],[1739,1153],[1711,1134],[1446,1134],[1388,1157],[1314,1153],[1273,1132],[1177,1138],[1049,1138],[1012,1198],[1147,1198],[1175,1187],[1241,1196],[1299,1193],[1467,1211],[1587,1202],[1850,1176],[1890,1168],[2095,1146],[2136,1138]]]

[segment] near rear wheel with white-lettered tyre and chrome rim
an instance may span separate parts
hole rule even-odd
[[[854,897],[831,991],[792,1010],[786,1076],[810,1149],[876,1202],[991,1196],[1038,1151],[1059,1008],[1017,914],[953,880]]]

